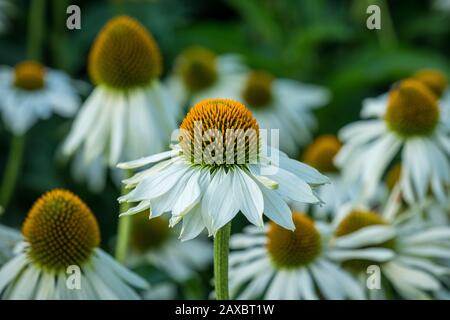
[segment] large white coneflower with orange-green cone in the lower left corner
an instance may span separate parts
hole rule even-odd
[[[148,288],[98,247],[95,216],[68,191],[43,195],[22,234],[16,255],[0,269],[2,299],[139,299],[134,288]]]

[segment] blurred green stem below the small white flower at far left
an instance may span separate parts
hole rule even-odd
[[[24,146],[24,135],[13,136],[11,141],[11,150],[9,151],[5,174],[0,189],[0,206],[3,207],[3,209],[9,204],[16,186],[17,177],[19,176],[19,171],[22,164]]]

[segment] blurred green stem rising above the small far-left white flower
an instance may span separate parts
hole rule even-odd
[[[32,0],[28,16],[28,59],[42,61],[46,0]]]

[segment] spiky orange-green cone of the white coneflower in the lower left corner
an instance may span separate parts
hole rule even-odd
[[[100,244],[100,231],[91,210],[71,192],[53,190],[31,208],[22,229],[29,257],[42,268],[62,271],[80,265]]]

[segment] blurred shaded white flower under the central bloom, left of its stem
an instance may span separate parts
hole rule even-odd
[[[196,238],[181,242],[164,217],[149,221],[148,212],[133,216],[126,264],[152,265],[182,283],[212,263],[212,244]],[[152,288],[153,290],[153,288]]]

